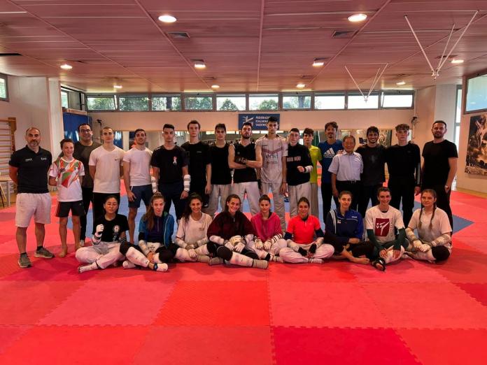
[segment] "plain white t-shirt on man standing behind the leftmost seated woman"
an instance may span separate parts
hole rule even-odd
[[[120,166],[123,155],[125,155],[124,150],[117,146],[114,146],[111,151],[105,150],[103,145],[92,150],[90,166],[97,166],[93,179],[93,192],[120,193]]]

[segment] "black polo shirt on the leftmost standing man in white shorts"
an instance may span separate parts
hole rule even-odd
[[[17,167],[17,193],[44,194],[48,190],[48,171],[52,164],[52,155],[48,150],[39,148],[36,153],[27,145],[13,152],[8,162]]]

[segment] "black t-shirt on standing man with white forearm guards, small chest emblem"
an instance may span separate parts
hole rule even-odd
[[[188,166],[188,155],[175,145],[171,150],[160,146],[154,150],[150,165],[159,168],[159,184],[183,181],[183,167]]]

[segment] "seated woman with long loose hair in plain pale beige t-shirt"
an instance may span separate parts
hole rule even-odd
[[[206,232],[211,223],[210,215],[202,213],[203,199],[198,194],[191,194],[181,215],[176,245],[179,246],[174,258],[181,262],[209,262]]]

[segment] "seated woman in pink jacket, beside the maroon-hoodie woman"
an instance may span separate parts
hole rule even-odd
[[[281,220],[276,213],[271,212],[269,196],[262,195],[259,206],[260,212],[250,220],[255,236],[254,241],[250,241],[247,248],[255,252],[260,259],[282,262],[278,255],[281,248],[286,247],[286,243],[283,239]]]

